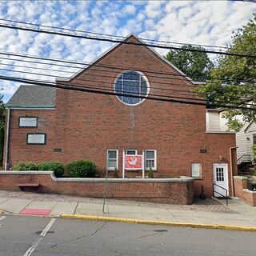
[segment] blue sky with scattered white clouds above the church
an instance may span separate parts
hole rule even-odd
[[[72,30],[126,36],[133,32],[139,38],[226,46],[231,33],[246,25],[256,12],[256,3],[242,1],[0,1],[0,18],[58,26]],[[0,23],[4,21],[0,20]],[[5,22],[6,23],[6,22]],[[110,48],[110,42],[38,34],[0,28],[0,52],[40,55],[79,62],[92,62]],[[157,50],[166,54],[167,50]],[[70,71],[59,66],[14,61],[0,55],[0,74],[21,78],[54,80],[28,73],[70,77]],[[14,57],[12,57],[14,58]],[[22,60],[23,58],[17,58]],[[8,65],[4,65],[8,64]],[[46,68],[42,71],[34,68]],[[12,71],[6,71],[12,70]],[[57,71],[54,71],[57,70]],[[58,70],[68,71],[66,73]],[[6,102],[19,83],[2,82]]]

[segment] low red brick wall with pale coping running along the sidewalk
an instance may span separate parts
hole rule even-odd
[[[38,183],[38,192],[103,198],[105,181],[56,182],[50,174],[0,174],[0,190],[19,191],[17,184]],[[107,198],[123,198],[173,204],[193,203],[190,182],[108,182]]]

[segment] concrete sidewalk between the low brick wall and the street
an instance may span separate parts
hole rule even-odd
[[[81,198],[58,194],[35,194],[28,192],[0,191],[0,210],[10,214],[31,214],[33,210],[49,212],[50,216],[61,214],[86,214],[116,218],[133,218],[162,222],[186,222],[231,226],[256,227],[256,207],[238,199],[225,201],[215,199],[197,200],[194,205],[170,205],[150,202],[134,202],[106,199]]]

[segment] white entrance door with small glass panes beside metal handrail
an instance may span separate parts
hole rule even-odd
[[[229,182],[226,163],[214,163],[214,197],[229,195]]]

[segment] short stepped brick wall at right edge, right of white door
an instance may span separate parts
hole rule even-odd
[[[256,206],[256,191],[247,188],[247,177],[234,176],[235,196],[246,201],[250,206]]]

